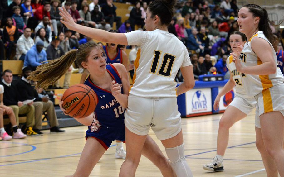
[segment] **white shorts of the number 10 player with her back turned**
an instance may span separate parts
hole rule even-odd
[[[130,94],[124,115],[125,126],[137,135],[147,135],[151,127],[159,140],[166,140],[181,131],[176,97],[144,98]]]

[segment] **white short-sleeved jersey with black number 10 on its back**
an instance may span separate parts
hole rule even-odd
[[[129,93],[139,97],[177,97],[174,78],[179,68],[191,65],[185,45],[168,31],[124,33],[128,45],[137,45],[135,73]]]

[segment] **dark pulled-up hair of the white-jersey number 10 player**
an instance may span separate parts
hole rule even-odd
[[[155,15],[159,16],[162,25],[167,25],[172,21],[174,15],[174,5],[176,0],[156,0],[152,2],[148,8],[152,13],[151,18]]]

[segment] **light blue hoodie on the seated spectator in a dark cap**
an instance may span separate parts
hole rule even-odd
[[[37,67],[38,65],[41,65],[41,62],[43,61],[47,61],[46,51],[42,49],[42,51],[39,53],[37,51],[37,46],[34,45],[29,51],[27,51],[27,55],[24,60],[24,66]]]

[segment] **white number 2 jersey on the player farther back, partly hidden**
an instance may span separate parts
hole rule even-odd
[[[236,86],[235,86],[236,95],[241,97],[241,98],[249,98],[247,96],[247,91],[243,87],[243,84],[242,84],[242,77],[246,77],[246,74],[243,74],[243,73],[240,73],[240,72],[237,71],[236,65],[233,62],[233,56],[232,55],[227,58],[227,65],[226,66],[229,69],[229,71],[231,72],[233,80],[236,83]]]

